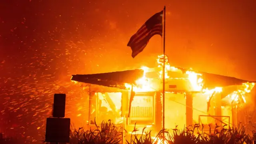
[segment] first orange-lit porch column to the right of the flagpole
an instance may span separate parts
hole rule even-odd
[[[193,97],[192,93],[186,94],[186,126],[193,124]]]

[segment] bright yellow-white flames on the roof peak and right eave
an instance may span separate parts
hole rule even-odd
[[[182,71],[180,69],[178,69],[174,66],[170,66],[170,64],[168,62],[168,56],[165,56],[165,58],[164,58],[164,55],[158,56],[157,62],[158,62],[158,68],[163,68],[163,65],[165,62],[165,70],[164,70],[165,79],[184,79],[184,78],[172,78],[168,75],[168,71],[182,73]],[[153,86],[152,82],[150,81],[150,78],[146,77],[146,73],[148,72],[148,70],[150,68],[143,66],[141,69],[144,70],[144,75],[142,78],[138,79],[136,81],[136,83],[134,84],[134,86],[133,86],[134,92],[155,91],[154,86]],[[163,70],[159,71],[159,76],[158,76],[159,79],[162,79],[162,76],[163,76],[162,72],[163,72]],[[202,92],[203,94],[207,94],[208,99],[210,98],[210,95],[212,95],[214,92],[215,93],[222,92],[222,87],[216,87],[213,89],[208,89],[208,88],[203,89],[204,80],[202,78],[202,74],[196,73],[192,69],[187,70],[185,72],[185,74],[187,74],[187,78],[185,78],[185,79],[189,80],[189,82],[192,86],[192,89],[194,91]],[[238,101],[239,96],[241,96],[242,100],[244,102],[246,102],[244,94],[250,93],[255,84],[254,83],[244,83],[242,85],[244,87],[242,90],[236,90],[236,91],[232,92],[231,94],[229,94],[227,97],[229,97],[231,100]],[[125,86],[129,90],[132,88],[132,86],[130,84],[125,84]]]

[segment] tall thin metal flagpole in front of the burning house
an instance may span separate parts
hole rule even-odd
[[[164,128],[164,102],[165,102],[165,98],[164,98],[164,93],[165,93],[165,6],[164,6],[164,36],[163,36],[163,53],[164,53],[164,65],[163,65],[163,130],[165,129]],[[163,144],[164,144],[164,139],[165,139],[165,137],[164,137],[164,131],[163,131]]]

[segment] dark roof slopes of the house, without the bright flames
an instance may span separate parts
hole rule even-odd
[[[187,71],[186,68],[178,68],[182,71]],[[218,74],[210,74],[207,72],[197,72],[202,74],[204,79],[204,86],[207,88],[224,87],[232,85],[242,85],[246,82],[255,82],[249,80],[242,80],[229,76],[222,76]],[[87,84],[96,84],[100,86],[114,87],[125,89],[124,84],[135,84],[138,78],[141,78],[144,71],[141,69],[125,70],[119,72],[107,72],[100,74],[76,74],[72,75],[72,79],[77,82],[83,82]]]

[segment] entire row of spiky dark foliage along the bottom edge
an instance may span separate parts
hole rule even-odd
[[[96,130],[84,130],[79,128],[71,132],[70,144],[121,144],[122,143],[122,128],[116,127],[111,121],[102,122],[97,126]],[[252,144],[252,137],[247,134],[244,126],[238,125],[237,128],[226,128],[228,126],[207,126],[210,130],[204,130],[204,125],[195,124],[194,126],[184,127],[183,130],[175,129],[170,131],[161,130],[156,137],[152,137],[151,131],[143,134],[136,134],[136,124],[132,132],[133,137],[126,140],[128,144],[160,144],[162,143],[162,134],[164,133],[165,144]]]

